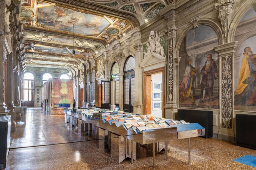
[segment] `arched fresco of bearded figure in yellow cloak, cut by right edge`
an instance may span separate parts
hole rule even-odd
[[[235,34],[234,109],[256,111],[256,5],[240,20]],[[238,71],[239,70],[239,71]]]

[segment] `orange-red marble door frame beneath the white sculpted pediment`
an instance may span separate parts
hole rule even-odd
[[[156,69],[153,69],[153,70],[149,70],[149,71],[145,71],[143,72],[143,115],[146,115],[146,100],[147,100],[147,95],[146,95],[146,87],[147,86],[147,79],[146,77],[147,76],[150,76],[152,74],[155,74],[155,73],[159,73],[159,72],[162,72],[162,117],[165,118],[165,110],[164,110],[164,106],[165,106],[165,67],[160,67],[160,68],[156,68]],[[151,82],[150,82],[151,83]]]

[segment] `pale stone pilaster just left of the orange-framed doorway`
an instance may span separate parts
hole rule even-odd
[[[140,42],[136,43],[134,46],[135,49],[135,97],[133,103],[133,112],[142,113],[142,92],[143,92],[143,74],[140,67],[142,62],[142,44]]]

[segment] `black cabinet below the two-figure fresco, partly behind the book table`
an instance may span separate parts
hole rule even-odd
[[[212,111],[178,110],[178,121],[184,120],[189,123],[198,123],[205,128],[205,138],[212,137]]]

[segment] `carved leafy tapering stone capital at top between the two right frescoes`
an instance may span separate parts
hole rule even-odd
[[[220,19],[222,25],[223,37],[225,40],[227,39],[227,33],[229,30],[230,18],[232,15],[234,3],[235,0],[225,0],[215,4],[215,8],[219,11],[218,18]]]

